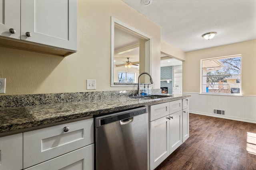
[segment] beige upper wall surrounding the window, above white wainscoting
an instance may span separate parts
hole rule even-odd
[[[242,89],[244,95],[256,95],[256,39],[185,53],[183,92],[200,92],[200,60],[212,57],[242,55]]]

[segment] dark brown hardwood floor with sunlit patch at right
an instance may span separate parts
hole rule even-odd
[[[190,137],[155,170],[256,170],[255,154],[256,124],[190,113]]]

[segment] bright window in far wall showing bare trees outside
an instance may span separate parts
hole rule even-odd
[[[241,94],[241,55],[201,60],[201,93]]]

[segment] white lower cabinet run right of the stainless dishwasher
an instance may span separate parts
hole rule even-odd
[[[150,106],[150,170],[154,170],[189,137],[188,110],[183,114],[182,106],[182,100]]]

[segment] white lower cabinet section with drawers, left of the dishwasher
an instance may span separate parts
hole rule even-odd
[[[93,118],[0,137],[0,170],[94,170]]]

